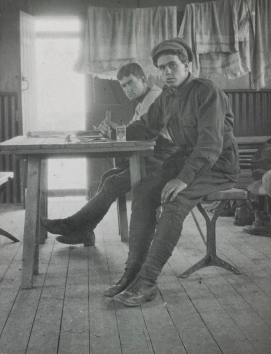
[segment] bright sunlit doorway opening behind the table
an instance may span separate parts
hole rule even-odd
[[[85,129],[84,75],[73,71],[79,18],[37,17],[37,130]],[[85,189],[86,160],[49,160],[48,189]]]

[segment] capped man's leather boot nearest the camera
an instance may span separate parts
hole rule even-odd
[[[146,279],[141,275],[113,300],[126,306],[140,306],[145,301],[151,301],[157,296],[158,287],[156,279]]]

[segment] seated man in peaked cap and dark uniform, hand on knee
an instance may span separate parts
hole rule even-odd
[[[126,139],[152,139],[166,127],[179,148],[133,192],[125,272],[104,293],[127,306],[155,298],[157,278],[179,240],[185,217],[205,195],[234,187],[240,171],[228,97],[210,80],[189,72],[193,55],[187,42],[163,41],[151,56],[165,87],[148,112],[126,127]]]

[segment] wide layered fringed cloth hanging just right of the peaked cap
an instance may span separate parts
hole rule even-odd
[[[243,0],[187,5],[179,37],[192,48],[195,76],[234,79],[250,70],[249,12]]]

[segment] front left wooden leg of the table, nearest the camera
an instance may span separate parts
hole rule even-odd
[[[40,170],[40,157],[29,156],[24,221],[22,289],[31,289],[33,275],[39,273]]]

